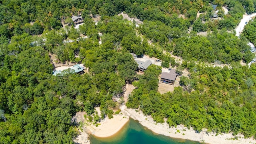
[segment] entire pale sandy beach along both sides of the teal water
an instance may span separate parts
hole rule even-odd
[[[125,95],[129,95],[129,92],[126,92]],[[90,141],[87,140],[88,134],[93,134],[97,137],[112,136],[123,128],[123,126],[129,121],[129,118],[133,118],[134,120],[138,120],[140,124],[146,128],[152,130],[152,132],[170,136],[172,138],[205,142],[207,144],[256,144],[256,140],[252,138],[245,139],[242,134],[238,134],[238,140],[234,140],[232,133],[218,134],[218,136],[216,136],[215,133],[207,133],[206,129],[200,133],[196,133],[192,128],[188,130],[188,128],[183,125],[179,125],[176,128],[170,128],[166,122],[164,124],[159,124],[154,122],[151,116],[144,116],[141,110],[137,110],[136,112],[134,109],[127,108],[125,105],[121,106],[120,109],[120,114],[113,115],[114,118],[112,119],[106,117],[104,121],[100,122],[98,127],[84,120],[83,115],[85,112],[78,112],[76,115],[77,121],[84,122],[84,125],[82,126],[82,132],[80,130],[81,134],[76,139],[76,142],[79,144],[90,143]],[[96,108],[96,110],[99,111],[99,108]],[[180,133],[177,130],[179,130]],[[86,136],[84,136],[85,134]]]

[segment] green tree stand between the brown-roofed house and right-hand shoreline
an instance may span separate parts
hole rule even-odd
[[[242,132],[246,138],[254,136],[256,89],[255,81],[252,80],[255,75],[250,74],[256,72],[256,65],[252,64],[248,69],[234,63],[231,67],[229,69],[194,65],[189,69],[189,78],[180,78],[184,90],[178,87],[174,88],[174,92],[162,95],[154,89],[147,90],[144,83],[150,84],[150,80],[144,79],[146,72],[152,72],[147,70],[138,82],[133,83],[136,89],[129,96],[126,105],[132,108],[140,107],[156,122],[162,123],[164,118],[168,118],[170,126],[184,124],[197,131],[208,128],[209,132],[228,133],[231,130],[233,134]],[[198,71],[194,71],[195,68]],[[157,86],[157,83],[154,86]],[[189,91],[191,88],[194,91]]]

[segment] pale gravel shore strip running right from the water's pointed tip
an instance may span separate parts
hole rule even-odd
[[[171,138],[180,138],[186,140],[192,140],[197,142],[204,142],[207,144],[255,144],[256,140],[253,138],[243,138],[242,134],[238,134],[238,140],[233,140],[234,136],[232,133],[229,134],[218,134],[210,132],[207,133],[206,129],[202,132],[196,133],[195,130],[184,127],[183,125],[178,125],[176,128],[169,127],[165,122],[164,124],[159,124],[154,122],[151,116],[144,116],[141,110],[135,111],[135,109],[127,108],[125,105],[121,106],[123,114],[126,114],[134,120],[138,120],[142,126],[145,126],[149,130],[156,134],[162,134],[164,136],[169,136]],[[178,132],[179,131],[179,132]]]

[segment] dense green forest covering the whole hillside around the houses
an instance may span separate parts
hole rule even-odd
[[[217,5],[220,20],[213,19],[210,4]],[[143,24],[123,20],[117,16],[121,12]],[[198,18],[197,12],[202,12]],[[72,116],[85,111],[94,123],[111,118],[123,103],[126,83],[136,87],[127,107],[140,108],[156,122],[167,118],[170,126],[255,138],[256,64],[239,64],[255,56],[247,45],[255,44],[255,21],[240,38],[227,31],[234,30],[245,12],[256,12],[256,1],[1,0],[0,143],[72,144],[79,126]],[[79,29],[72,14],[84,18]],[[98,16],[95,24],[92,18]],[[162,67],[178,66],[190,75],[180,77],[174,92],[161,95],[161,66],[151,65],[137,75],[130,52],[161,59]],[[64,70],[54,76],[49,53],[63,64],[82,63],[89,73]],[[228,66],[207,66],[213,62]],[[102,115],[94,113],[96,106]]]

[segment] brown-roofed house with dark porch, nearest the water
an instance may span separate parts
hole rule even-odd
[[[174,82],[176,80],[177,74],[174,69],[171,69],[170,72],[163,72],[161,74],[161,82],[165,84],[171,84],[174,85]]]

